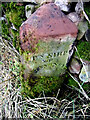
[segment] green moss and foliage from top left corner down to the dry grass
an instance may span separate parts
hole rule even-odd
[[[18,6],[17,3],[2,3],[3,12],[6,15],[6,21],[2,21],[2,36],[11,41],[13,46],[19,50],[19,27],[25,20],[24,6]],[[12,24],[16,30],[12,29]]]

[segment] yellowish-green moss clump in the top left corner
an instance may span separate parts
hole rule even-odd
[[[17,6],[16,3],[3,3],[2,7],[5,11],[8,23],[13,23],[19,29],[21,23],[25,20],[24,6]]]

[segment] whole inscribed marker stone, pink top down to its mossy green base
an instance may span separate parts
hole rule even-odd
[[[42,91],[53,91],[55,95],[64,81],[69,49],[77,31],[76,25],[53,3],[42,5],[21,25],[22,91],[31,96]]]

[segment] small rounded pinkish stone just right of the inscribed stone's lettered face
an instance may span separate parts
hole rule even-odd
[[[70,66],[69,66],[70,73],[79,74],[80,69],[81,69],[80,62],[77,59],[72,58],[72,61],[71,61]]]

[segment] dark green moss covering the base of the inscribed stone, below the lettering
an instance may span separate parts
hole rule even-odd
[[[22,79],[22,93],[25,96],[37,97],[44,93],[56,96],[56,93],[64,81],[62,77],[31,77],[26,81]]]

